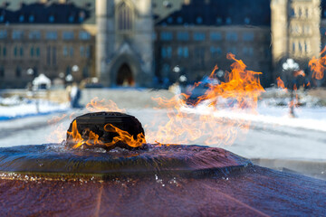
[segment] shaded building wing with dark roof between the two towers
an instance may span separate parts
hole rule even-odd
[[[180,74],[200,80],[214,67],[230,71],[232,52],[249,70],[264,71],[272,81],[269,0],[185,1],[155,25],[155,60],[158,76],[176,81]],[[179,71],[174,71],[178,66]]]

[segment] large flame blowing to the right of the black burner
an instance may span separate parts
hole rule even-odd
[[[190,98],[187,94],[173,99],[155,99],[158,105],[168,108],[168,122],[154,120],[151,127],[159,127],[157,131],[147,132],[149,141],[188,144],[204,139],[206,145],[232,144],[239,129],[248,129],[250,121],[225,118],[223,113],[230,110],[255,112],[258,96],[264,91],[259,80],[261,72],[246,70],[245,63],[236,60],[234,54],[227,54],[227,59],[235,62],[231,71],[226,72],[226,81],[211,84],[193,107],[187,105]],[[216,66],[210,79],[216,79],[217,69]]]

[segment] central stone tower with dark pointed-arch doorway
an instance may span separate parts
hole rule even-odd
[[[101,82],[149,87],[154,75],[151,0],[96,0],[96,19]]]

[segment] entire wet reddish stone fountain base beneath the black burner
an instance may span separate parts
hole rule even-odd
[[[31,216],[322,216],[326,182],[206,146],[0,148],[0,212]]]

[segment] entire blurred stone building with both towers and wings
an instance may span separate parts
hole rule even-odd
[[[223,76],[227,52],[268,86],[287,58],[304,68],[319,55],[325,2],[0,0],[0,88],[24,88],[40,73],[110,87],[191,82],[216,64]]]

